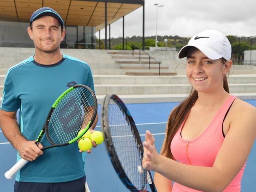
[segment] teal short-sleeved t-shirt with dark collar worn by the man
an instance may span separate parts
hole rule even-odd
[[[19,127],[27,140],[36,140],[54,101],[69,87],[84,84],[93,88],[88,64],[63,54],[60,62],[41,65],[33,56],[7,71],[2,97],[2,110],[20,108]],[[41,143],[48,146],[45,135]],[[79,179],[84,173],[84,157],[77,143],[44,151],[28,162],[16,175],[17,181],[59,183]],[[21,157],[17,154],[17,160]]]

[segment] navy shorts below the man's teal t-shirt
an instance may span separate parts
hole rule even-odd
[[[85,192],[86,177],[63,183],[32,183],[15,181],[15,192]]]

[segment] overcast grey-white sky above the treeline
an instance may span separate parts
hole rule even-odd
[[[164,7],[156,8],[156,3]],[[145,0],[145,36],[156,34],[156,9],[157,35],[192,37],[206,29],[224,35],[256,35],[256,0]],[[111,24],[111,37],[122,37],[122,24],[123,19]],[[125,37],[133,35],[142,36],[142,7],[125,16]]]

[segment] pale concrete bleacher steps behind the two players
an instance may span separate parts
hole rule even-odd
[[[177,75],[159,76],[159,63],[150,65],[149,70],[148,56],[141,52],[140,63],[138,50],[132,55],[128,50],[62,49],[62,53],[90,65],[99,103],[107,93],[118,94],[126,103],[182,101],[191,89],[185,76],[186,61],[178,60],[177,52],[147,52],[161,62],[161,73]],[[7,69],[33,54],[34,48],[0,48],[0,93]],[[150,58],[150,64],[153,62]],[[230,74],[228,82],[233,95],[241,99],[256,99],[256,67],[233,65]]]

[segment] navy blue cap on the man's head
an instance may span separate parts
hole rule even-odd
[[[62,26],[65,25],[65,23],[64,23],[63,19],[60,17],[60,15],[50,7],[42,7],[40,9],[37,9],[36,11],[34,11],[34,13],[32,13],[32,15],[30,17],[29,24],[31,25],[33,21],[35,21],[36,19],[38,19],[38,17],[40,17],[42,15],[52,16],[52,17],[58,19],[58,21],[60,22],[60,24]]]

